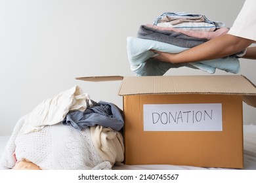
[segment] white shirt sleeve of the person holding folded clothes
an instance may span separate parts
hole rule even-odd
[[[256,1],[246,0],[228,34],[256,41]]]

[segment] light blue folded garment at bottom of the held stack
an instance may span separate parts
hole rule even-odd
[[[173,44],[160,41],[152,41],[149,39],[140,39],[137,37],[127,37],[127,56],[131,66],[131,71],[137,76],[161,76],[169,69],[179,67],[190,67],[193,69],[201,69],[207,73],[215,73],[216,69],[221,69],[229,73],[238,73],[240,71],[239,59],[236,57],[225,57],[219,59],[211,59],[205,61],[191,63],[166,63],[156,60],[154,52],[179,53],[189,48],[182,48]]]

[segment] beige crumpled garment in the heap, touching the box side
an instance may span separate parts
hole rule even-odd
[[[120,165],[124,159],[124,144],[121,133],[110,127],[96,125],[91,127],[91,139],[103,161],[110,161],[112,165]]]

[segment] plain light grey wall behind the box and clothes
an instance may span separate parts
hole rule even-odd
[[[163,12],[205,14],[230,27],[244,0],[0,0],[0,135],[11,135],[18,119],[41,101],[75,85],[94,101],[115,103],[120,81],[83,82],[79,76],[135,76],[126,38]],[[256,84],[256,61],[241,59]],[[166,75],[210,75],[172,69]],[[215,75],[230,75],[217,71]],[[244,124],[256,124],[256,109],[244,104]]]

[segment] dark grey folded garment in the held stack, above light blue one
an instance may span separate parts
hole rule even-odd
[[[166,42],[175,46],[181,46],[183,48],[192,48],[208,41],[207,39],[190,37],[175,31],[162,31],[159,29],[154,29],[153,27],[148,27],[146,25],[140,25],[137,37],[141,39]]]

